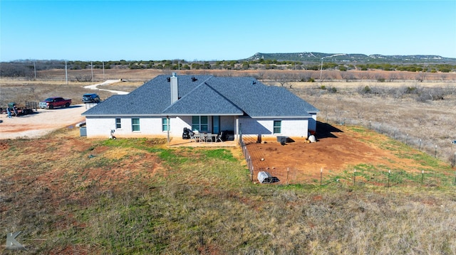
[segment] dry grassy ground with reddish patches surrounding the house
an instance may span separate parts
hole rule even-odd
[[[164,73],[111,71],[105,80],[122,81],[105,88],[125,91]],[[94,83],[67,85],[53,72],[58,77],[0,80],[1,105],[55,94],[78,100]],[[291,82],[271,78],[290,71],[274,72],[248,74],[314,104],[323,129],[317,143],[252,151],[266,158],[259,168],[282,170],[286,163],[303,169],[272,159],[285,149],[301,155],[313,164],[303,182],[296,174],[291,185],[250,182],[239,148],[85,139],[64,127],[0,140],[0,234],[22,231],[24,254],[456,254],[455,74],[423,82],[404,74],[403,83]],[[443,98],[427,99],[429,92]],[[4,244],[3,254],[18,252]]]

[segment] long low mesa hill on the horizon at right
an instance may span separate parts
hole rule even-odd
[[[333,63],[432,63],[456,64],[456,58],[444,58],[439,55],[364,55],[345,53],[255,53],[247,61],[258,60],[301,61],[303,63],[317,63],[321,60]]]

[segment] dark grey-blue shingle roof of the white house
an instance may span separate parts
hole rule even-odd
[[[171,104],[170,82],[159,75],[130,94],[115,95],[85,116],[243,115],[309,117],[318,112],[284,87],[266,86],[252,77],[177,76],[179,100]]]

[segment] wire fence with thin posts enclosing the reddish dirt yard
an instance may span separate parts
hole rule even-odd
[[[420,151],[428,153],[430,156],[438,158],[441,152],[438,146],[430,141],[418,139],[414,136],[409,136],[406,133],[399,131],[391,126],[376,123],[373,121],[354,121],[353,119],[340,119],[338,124],[365,126],[367,129],[377,131],[380,134],[385,134],[391,138],[404,143],[407,146],[412,146]],[[254,147],[250,147],[250,143],[257,142],[255,138],[249,136],[240,136],[239,145],[242,147],[242,153],[249,168],[249,180],[257,182],[257,175],[261,171],[269,173],[269,183],[278,183],[282,185],[375,185],[383,187],[394,186],[413,186],[423,185],[427,187],[443,187],[456,186],[456,171],[426,171],[415,170],[413,172],[388,168],[381,166],[356,166],[351,170],[333,170],[333,169],[304,169],[290,168],[287,166],[276,166],[268,168],[257,164],[255,166],[254,159],[261,158],[261,151],[252,151]],[[451,167],[455,167],[455,158],[451,162]]]

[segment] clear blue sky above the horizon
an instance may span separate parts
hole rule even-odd
[[[456,1],[0,1],[0,61],[456,58]]]

